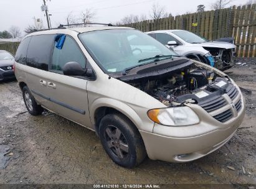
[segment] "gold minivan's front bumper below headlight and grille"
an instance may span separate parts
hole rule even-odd
[[[140,134],[150,159],[189,162],[214,152],[229,141],[242,123],[244,114],[243,103],[237,117],[225,124],[218,123],[211,119],[211,116],[204,114],[201,115],[204,116],[201,117],[203,121],[194,126],[168,127],[155,124],[153,133],[140,131]],[[207,129],[209,132],[206,132]]]

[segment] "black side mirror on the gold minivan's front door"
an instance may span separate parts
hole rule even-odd
[[[77,62],[67,62],[62,68],[64,75],[83,76],[87,69],[83,69]]]

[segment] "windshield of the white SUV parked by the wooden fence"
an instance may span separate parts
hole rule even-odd
[[[193,34],[192,32],[186,30],[173,31],[172,33],[190,44],[201,44],[204,42],[209,42],[209,40],[205,39],[204,37]]]

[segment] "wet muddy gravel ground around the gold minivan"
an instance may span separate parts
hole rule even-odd
[[[244,122],[227,144],[202,159],[146,159],[115,165],[96,134],[52,113],[27,113],[17,81],[0,83],[0,183],[256,184],[256,60],[227,70],[246,99]],[[243,170],[244,169],[244,170]]]

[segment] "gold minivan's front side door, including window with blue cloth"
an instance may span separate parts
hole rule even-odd
[[[64,75],[62,71],[67,62],[77,62],[85,68],[87,59],[72,37],[65,35],[64,43],[61,45],[58,46],[58,42],[55,42],[52,64],[49,68],[52,74],[47,80],[54,111],[78,124],[91,127],[87,99],[88,81],[86,78]]]

